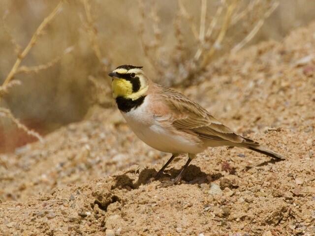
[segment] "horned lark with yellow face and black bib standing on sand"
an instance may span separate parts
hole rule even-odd
[[[174,157],[188,153],[188,161],[171,183],[179,182],[190,161],[208,147],[249,148],[275,159],[284,159],[236,134],[185,95],[153,83],[141,66],[121,65],[109,76],[118,109],[136,136],[152,148],[172,153],[156,178]]]

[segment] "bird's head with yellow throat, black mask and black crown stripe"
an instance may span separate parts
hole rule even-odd
[[[112,77],[113,97],[125,97],[136,100],[149,88],[142,66],[121,65],[108,74]]]

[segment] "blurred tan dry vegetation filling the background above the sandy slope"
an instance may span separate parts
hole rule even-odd
[[[0,1],[1,84],[59,3]],[[112,106],[106,75],[120,64],[143,65],[168,86],[189,86],[210,79],[203,72],[224,53],[281,40],[314,20],[314,11],[309,0],[63,1],[21,59],[10,88],[0,89],[0,151],[35,140],[11,115],[46,134],[82,119],[94,104]],[[257,25],[259,31],[238,47]]]

